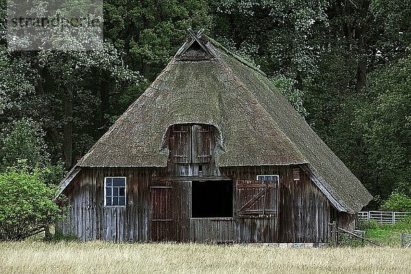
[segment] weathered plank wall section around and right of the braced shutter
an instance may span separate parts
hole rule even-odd
[[[256,179],[257,175],[279,175],[277,223],[274,219],[239,221],[240,241],[245,242],[327,242],[330,204],[310,177],[300,170],[300,180],[292,177],[298,166],[256,166],[221,169],[223,175]],[[271,222],[271,223],[269,223]],[[243,229],[241,229],[243,227]],[[273,228],[277,229],[273,232]],[[247,231],[246,233],[241,230]]]

